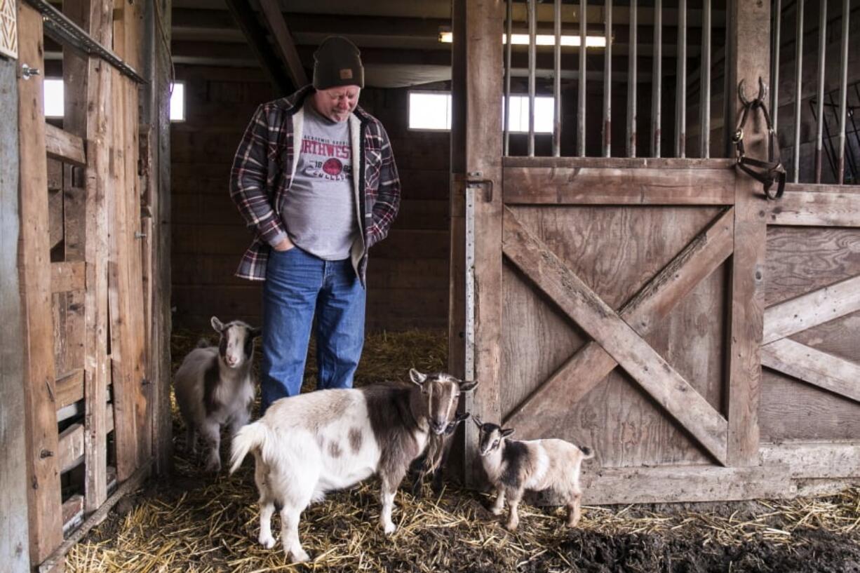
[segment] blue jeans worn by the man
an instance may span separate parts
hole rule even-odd
[[[365,288],[349,259],[272,250],[263,285],[261,416],[302,389],[316,314],[317,389],[350,388],[365,341]]]

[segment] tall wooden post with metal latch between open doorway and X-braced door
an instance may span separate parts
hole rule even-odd
[[[475,379],[472,413],[501,422],[501,155],[502,62],[500,0],[465,6],[467,185],[475,188]],[[471,182],[471,183],[470,183]],[[467,425],[466,462],[477,459],[474,424]],[[473,464],[474,470],[480,464]],[[467,475],[475,478],[476,473]]]

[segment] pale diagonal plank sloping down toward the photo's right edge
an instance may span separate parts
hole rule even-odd
[[[761,348],[762,366],[860,402],[860,365],[790,338]]]

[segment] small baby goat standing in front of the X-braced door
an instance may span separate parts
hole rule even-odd
[[[517,509],[525,490],[555,491],[567,505],[568,527],[576,527],[581,515],[580,466],[583,459],[594,457],[591,448],[563,440],[507,440],[513,428],[472,419],[481,430],[481,464],[495,488],[494,515],[504,510],[507,496],[507,529],[516,531],[519,525]]]

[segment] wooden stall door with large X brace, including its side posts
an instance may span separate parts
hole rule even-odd
[[[757,84],[769,7],[730,4],[728,85]],[[789,472],[759,452],[772,207],[760,183],[730,159],[503,157],[504,3],[461,10],[451,360],[481,382],[470,410],[520,438],[593,447],[587,502],[789,493]],[[765,157],[764,127],[748,131],[747,153]],[[470,428],[467,465],[475,441]]]

